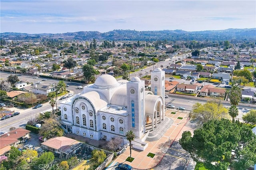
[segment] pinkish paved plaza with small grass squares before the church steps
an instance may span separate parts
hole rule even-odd
[[[164,133],[162,138],[154,142],[148,142],[148,147],[146,150],[136,150],[132,148],[132,158],[134,160],[132,162],[126,161],[126,158],[130,156],[130,149],[128,148],[124,153],[122,153],[112,164],[118,163],[126,163],[131,165],[134,169],[139,170],[147,170],[151,169],[158,165],[158,163],[162,160],[169,147],[172,145],[174,140],[178,140],[182,137],[182,132],[186,130],[194,130],[194,127],[185,126],[188,122],[188,113],[184,113],[182,111],[176,112],[176,114],[172,114],[171,112],[174,109],[169,109],[166,111],[166,117],[169,117],[174,120],[174,123],[170,126],[170,128]],[[178,119],[181,117],[182,119]],[[148,157],[148,153],[155,154],[154,158]],[[166,162],[168,163],[168,162]],[[170,162],[169,162],[170,163]],[[194,164],[195,166],[195,164]],[[188,164],[187,169],[194,170],[194,166]],[[111,167],[111,166],[110,166]]]

